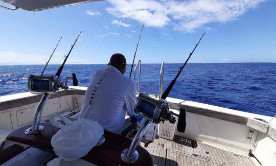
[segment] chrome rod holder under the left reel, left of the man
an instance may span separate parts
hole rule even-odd
[[[34,120],[33,120],[33,124],[32,127],[28,128],[25,131],[25,134],[27,135],[31,135],[31,134],[36,134],[38,132],[40,132],[41,130],[44,129],[43,126],[39,126],[40,123],[40,119],[41,119],[41,114],[42,114],[42,110],[45,106],[45,104],[47,103],[48,99],[50,98],[50,94],[49,93],[43,93],[43,96],[40,100],[40,102],[38,103],[36,110],[35,110],[35,115],[34,115]]]

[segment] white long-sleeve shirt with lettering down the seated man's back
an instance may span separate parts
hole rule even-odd
[[[114,66],[98,70],[85,92],[80,117],[99,122],[105,130],[117,132],[123,126],[126,110],[136,115],[135,83]]]

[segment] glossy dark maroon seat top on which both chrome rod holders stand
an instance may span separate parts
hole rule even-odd
[[[14,130],[7,136],[7,139],[30,146],[39,146],[53,150],[51,138],[59,131],[59,128],[53,126],[51,123],[40,123],[40,125],[44,126],[44,129],[37,134],[26,135],[24,133],[25,130],[31,127],[31,125],[28,125]],[[153,165],[151,155],[141,146],[137,147],[139,159],[131,164],[125,163],[121,159],[121,152],[130,146],[131,140],[109,131],[104,131],[104,137],[105,142],[101,146],[94,147],[81,159],[97,165],[110,165],[111,163],[114,165]]]

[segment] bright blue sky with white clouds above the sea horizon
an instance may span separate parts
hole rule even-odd
[[[4,3],[0,3],[3,5]],[[106,64],[114,53],[132,63],[276,62],[274,0],[107,0],[39,12],[0,8],[0,65]]]

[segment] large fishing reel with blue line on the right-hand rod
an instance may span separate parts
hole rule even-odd
[[[155,124],[165,121],[174,124],[176,119],[173,115],[178,116],[169,110],[169,104],[166,100],[155,100],[143,93],[140,93],[137,98],[135,112]]]

